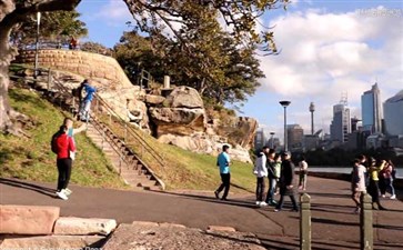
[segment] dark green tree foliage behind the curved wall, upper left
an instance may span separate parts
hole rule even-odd
[[[78,20],[80,13],[73,11],[54,11],[44,12],[41,16],[40,38],[67,43],[71,37],[80,38],[88,34],[85,23]],[[11,32],[11,41],[16,46],[33,43],[37,33],[37,17],[31,14],[27,19],[14,27]]]

